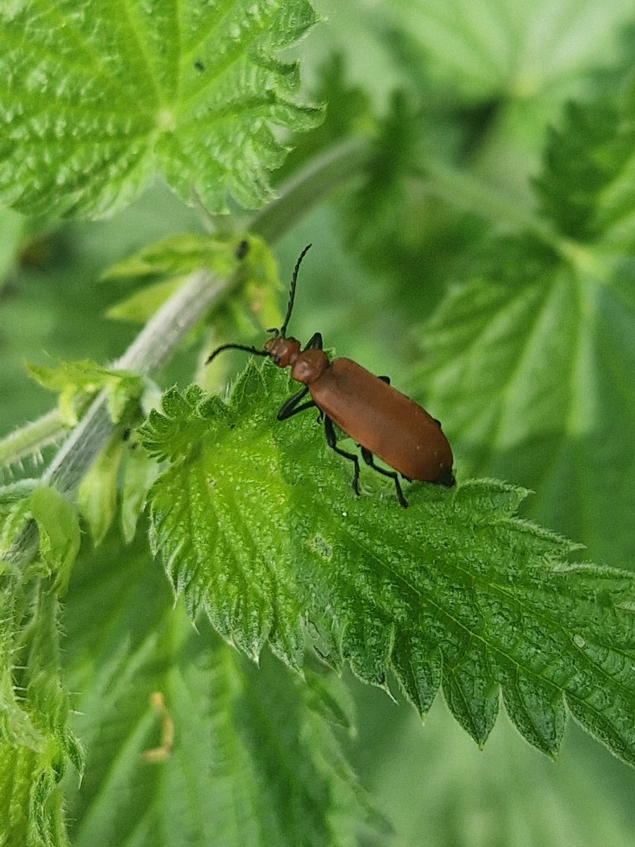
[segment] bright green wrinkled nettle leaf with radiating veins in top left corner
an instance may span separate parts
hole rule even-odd
[[[31,214],[100,216],[163,174],[222,211],[268,196],[266,171],[316,109],[276,54],[306,33],[307,0],[207,4],[52,0],[0,12],[3,202]]]

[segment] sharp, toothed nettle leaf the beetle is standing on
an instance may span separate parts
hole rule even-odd
[[[382,687],[393,670],[420,711],[441,685],[479,744],[502,691],[549,755],[570,711],[635,763],[632,575],[567,563],[576,545],[516,518],[527,492],[494,480],[411,484],[405,510],[368,469],[356,499],[314,415],[275,420],[290,390],[251,364],[228,404],[173,390],[143,428],[170,457],[152,544],[191,613],[247,655],[269,640],[294,666],[305,617],[334,663]]]

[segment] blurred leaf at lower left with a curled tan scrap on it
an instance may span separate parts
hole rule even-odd
[[[345,723],[340,681],[312,670],[308,688],[266,654],[253,667],[158,576],[143,534],[123,548],[111,533],[69,590],[87,748],[82,783],[65,780],[75,847],[353,847],[365,798],[323,718]]]

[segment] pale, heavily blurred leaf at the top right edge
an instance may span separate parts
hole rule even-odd
[[[559,0],[396,0],[384,14],[417,43],[427,74],[455,96],[529,100],[538,92],[553,96],[589,66],[610,62],[631,11],[626,0],[600,18]]]

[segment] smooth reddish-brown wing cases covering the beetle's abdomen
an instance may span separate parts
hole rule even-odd
[[[451,484],[452,451],[410,397],[351,359],[334,359],[309,385],[317,406],[357,444],[409,479]]]

